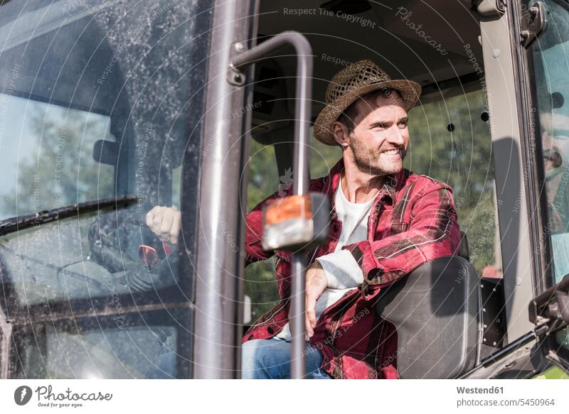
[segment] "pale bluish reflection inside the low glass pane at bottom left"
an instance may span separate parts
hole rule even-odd
[[[176,377],[174,327],[34,330],[34,340],[21,347],[26,378]]]

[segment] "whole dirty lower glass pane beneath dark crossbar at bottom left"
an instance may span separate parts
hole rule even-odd
[[[73,321],[36,322],[16,328],[15,378],[178,378],[187,361],[176,355],[188,347],[179,326],[184,315],[147,312]],[[27,331],[27,332],[26,332]],[[184,371],[186,371],[184,373]]]

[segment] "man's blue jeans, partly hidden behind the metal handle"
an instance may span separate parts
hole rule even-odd
[[[251,339],[242,345],[241,375],[243,379],[290,378],[291,343],[284,339]],[[318,349],[307,343],[307,379],[331,379],[322,369]]]

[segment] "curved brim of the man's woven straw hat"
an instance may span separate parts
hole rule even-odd
[[[353,89],[346,92],[344,96],[336,99],[334,104],[327,104],[326,107],[320,111],[316,121],[314,121],[314,137],[326,145],[338,145],[334,139],[334,134],[332,134],[332,124],[336,122],[342,112],[355,102],[358,97],[368,92],[384,88],[395,89],[399,92],[403,99],[403,104],[405,104],[406,111],[415,106],[421,95],[421,85],[412,80],[386,80],[384,82],[377,82],[358,89]]]

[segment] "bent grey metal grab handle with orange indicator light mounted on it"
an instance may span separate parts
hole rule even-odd
[[[285,31],[266,40],[260,45],[256,45],[249,50],[243,50],[243,45],[236,47],[238,55],[235,55],[230,70],[233,71],[238,79],[244,80],[245,75],[240,70],[251,65],[260,58],[274,53],[277,49],[285,45],[292,45],[297,53],[297,87],[294,108],[294,163],[293,163],[293,183],[292,191],[294,195],[303,195],[308,192],[309,187],[309,162],[308,162],[308,143],[309,126],[312,119],[312,70],[314,67],[314,56],[312,48],[307,38],[295,31]],[[303,378],[306,374],[306,355],[304,353],[304,337],[306,330],[304,327],[304,271],[307,267],[308,258],[304,251],[292,254],[292,290],[291,290],[291,310],[290,332],[292,334],[292,351],[290,361],[291,378]]]

